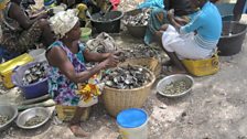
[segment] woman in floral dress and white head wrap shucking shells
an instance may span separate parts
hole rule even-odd
[[[97,95],[89,90],[89,94],[80,95],[77,84],[86,84],[101,70],[116,66],[118,57],[115,54],[117,53],[90,53],[79,42],[80,28],[76,10],[58,12],[51,18],[50,22],[60,40],[46,51],[50,64],[49,93],[58,105],[76,106],[69,128],[75,136],[85,137],[88,133],[79,127],[79,119],[85,107],[97,103]],[[87,70],[86,62],[99,62],[99,64]]]

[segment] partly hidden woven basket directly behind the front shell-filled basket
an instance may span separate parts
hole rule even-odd
[[[140,65],[147,67],[155,77],[158,77],[161,73],[161,63],[154,57],[143,57],[143,58],[127,58],[126,62],[121,63],[120,66],[124,65]]]

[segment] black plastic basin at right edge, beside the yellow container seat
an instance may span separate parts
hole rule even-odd
[[[230,56],[237,54],[241,50],[245,40],[247,25],[237,21],[224,21],[223,33],[217,44],[219,55]]]

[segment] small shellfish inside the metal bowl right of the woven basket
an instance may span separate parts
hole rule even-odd
[[[189,83],[184,79],[181,79],[181,81],[175,81],[168,84],[163,88],[163,93],[169,95],[176,95],[187,90],[189,88],[190,88]]]

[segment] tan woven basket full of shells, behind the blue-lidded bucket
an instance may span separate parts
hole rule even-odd
[[[149,94],[151,93],[152,84],[155,81],[154,74],[146,68],[151,74],[151,82],[147,85],[133,89],[116,89],[105,86],[103,99],[106,110],[109,115],[116,117],[118,113],[127,108],[140,108],[143,106]]]

